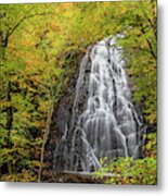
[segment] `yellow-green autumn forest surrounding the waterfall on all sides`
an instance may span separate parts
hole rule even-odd
[[[120,157],[111,163],[102,157],[103,167],[91,181],[157,183],[156,3],[0,4],[0,181],[49,181],[43,177],[48,168],[52,172],[49,149],[63,134],[55,131],[54,118],[63,100],[74,101],[79,63],[88,47],[120,34],[116,47],[122,47],[131,101],[146,127],[144,156]],[[64,119],[64,113],[59,118]],[[104,177],[106,173],[116,176]]]

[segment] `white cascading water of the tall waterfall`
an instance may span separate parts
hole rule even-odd
[[[101,157],[140,157],[142,123],[115,41],[99,41],[81,62],[72,125],[56,146],[56,171],[91,172]]]

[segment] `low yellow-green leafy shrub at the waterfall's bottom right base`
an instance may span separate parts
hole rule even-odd
[[[156,184],[156,159],[118,158],[99,169],[94,179],[104,180],[106,184],[154,185]]]

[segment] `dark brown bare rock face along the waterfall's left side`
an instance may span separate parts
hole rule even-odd
[[[54,112],[52,115],[52,123],[50,125],[49,138],[46,145],[46,151],[44,151],[46,168],[43,169],[44,170],[43,172],[46,174],[48,172],[51,173],[51,171],[53,171],[53,168],[54,168],[53,166],[55,164],[55,161],[54,161],[55,146],[61,145],[63,140],[64,132],[66,131],[67,127],[70,126],[73,103],[74,103],[75,91],[76,91],[75,90],[76,83],[78,78],[79,64],[82,57],[83,57],[83,53],[75,54],[74,58],[75,58],[76,63],[73,64],[74,74],[72,74],[72,77],[69,78],[67,83],[67,87],[62,94],[62,98],[60,99],[60,102],[54,107]],[[57,163],[62,164],[62,161],[59,161]]]

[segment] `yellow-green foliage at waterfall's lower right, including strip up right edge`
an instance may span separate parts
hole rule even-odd
[[[117,158],[107,163],[107,158],[101,158],[100,168],[94,173],[95,180],[105,181],[106,184],[126,185],[155,185],[157,183],[156,134],[146,135],[144,159]]]

